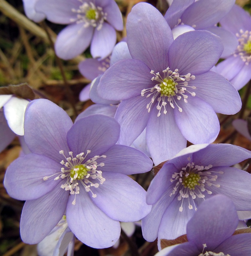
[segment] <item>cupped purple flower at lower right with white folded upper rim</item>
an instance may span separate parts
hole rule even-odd
[[[147,190],[146,202],[153,207],[142,219],[144,238],[185,234],[198,205],[211,195],[225,194],[237,210],[251,210],[251,175],[229,167],[250,157],[250,151],[231,144],[200,144],[167,161]]]

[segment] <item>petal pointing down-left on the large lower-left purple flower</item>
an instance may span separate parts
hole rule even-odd
[[[20,222],[22,240],[27,244],[41,242],[62,218],[69,191],[56,186],[54,190],[35,200],[25,202]]]

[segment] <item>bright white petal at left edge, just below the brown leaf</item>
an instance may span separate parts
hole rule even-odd
[[[4,115],[9,128],[17,135],[24,135],[25,109],[29,101],[12,97],[4,105]]]

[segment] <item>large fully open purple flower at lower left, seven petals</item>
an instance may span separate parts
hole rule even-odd
[[[144,173],[152,161],[139,150],[115,145],[115,119],[92,115],[72,123],[48,100],[31,102],[25,112],[30,154],[7,169],[10,196],[26,200],[20,232],[25,243],[48,235],[66,212],[69,228],[88,246],[110,247],[120,222],[137,221],[151,209],[146,191],[127,174]]]

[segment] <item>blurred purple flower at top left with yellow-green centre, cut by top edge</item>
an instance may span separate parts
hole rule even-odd
[[[57,55],[65,60],[81,54],[91,44],[93,58],[104,59],[123,29],[122,15],[114,0],[37,0],[36,10],[58,24],[70,24],[58,35]]]

